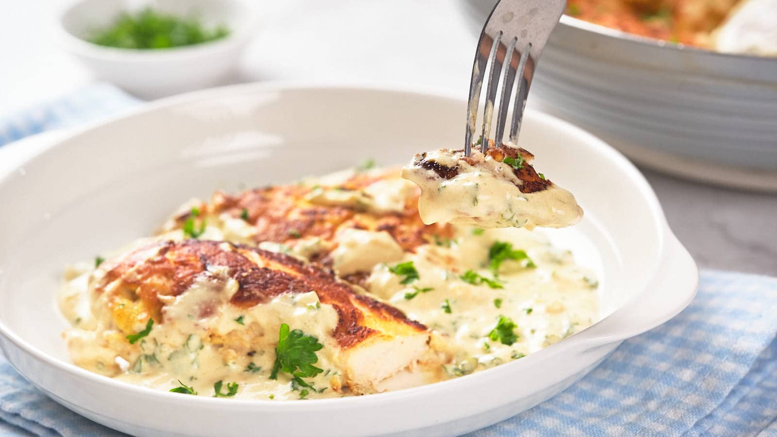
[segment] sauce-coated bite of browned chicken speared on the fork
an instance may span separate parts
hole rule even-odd
[[[534,155],[508,145],[419,153],[402,177],[421,189],[418,211],[424,223],[481,228],[563,228],[583,217],[574,196],[529,164]]]

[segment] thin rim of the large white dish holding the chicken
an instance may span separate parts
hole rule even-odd
[[[135,117],[135,116],[138,116],[139,114],[144,114],[147,112],[152,112],[155,110],[165,109],[169,107],[176,107],[179,105],[184,105],[186,103],[193,103],[200,100],[214,99],[215,97],[218,97],[219,95],[221,95],[221,93],[235,93],[239,91],[244,91],[244,93],[268,93],[268,92],[278,92],[278,91],[286,91],[286,90],[305,90],[305,89],[312,90],[312,91],[343,90],[343,91],[361,91],[361,92],[366,91],[370,93],[372,92],[407,93],[407,94],[416,94],[427,98],[458,100],[458,101],[461,101],[462,103],[465,102],[465,100],[461,96],[459,96],[457,93],[451,92],[450,89],[435,89],[434,87],[429,87],[429,86],[396,85],[396,84],[387,84],[385,82],[377,82],[377,83],[359,82],[355,84],[354,82],[348,82],[347,84],[343,84],[343,83],[337,83],[337,82],[274,81],[274,82],[242,83],[242,84],[236,84],[231,86],[221,86],[221,87],[216,87],[211,89],[193,91],[190,93],[183,93],[177,96],[171,96],[164,99],[155,100],[155,101],[152,101],[151,103],[147,103],[145,105],[141,105],[140,107],[129,110],[124,114],[109,117],[109,118],[103,119],[102,121],[96,121],[90,124],[86,124],[81,128],[76,128],[73,131],[68,132],[68,134],[63,135],[60,138],[56,138],[53,142],[51,142],[50,145],[47,145],[47,147],[41,148],[36,152],[34,152],[33,154],[30,154],[29,156],[26,156],[25,158],[19,160],[18,166],[23,166],[27,163],[30,163],[31,161],[33,161],[33,159],[36,159],[37,156],[40,156],[46,153],[50,149],[54,149],[55,147],[61,145],[64,142],[71,141],[73,138],[77,138],[79,135],[82,135],[87,131],[92,131],[94,129],[97,129],[109,124],[113,124],[115,122],[122,121],[124,119]],[[588,143],[592,147],[598,149],[598,151],[604,154],[605,156],[608,156],[611,159],[615,159],[616,161],[618,161],[618,166],[622,166],[624,170],[630,174],[630,176],[632,177],[632,181],[636,184],[639,190],[639,193],[643,194],[643,199],[644,201],[646,201],[646,204],[650,208],[651,220],[655,223],[657,232],[660,233],[660,242],[659,242],[660,255],[657,257],[656,262],[653,263],[653,265],[649,266],[650,275],[648,276],[646,283],[643,285],[643,288],[645,289],[649,288],[651,282],[657,281],[656,274],[663,267],[661,256],[666,254],[668,250],[678,250],[678,248],[685,250],[685,248],[681,245],[681,243],[679,243],[678,239],[671,232],[671,229],[669,228],[666,217],[664,215],[663,208],[661,208],[660,202],[658,201],[658,198],[655,192],[650,187],[650,184],[643,177],[642,173],[640,173],[639,170],[636,169],[636,166],[634,166],[628,159],[625,158],[625,156],[623,156],[620,152],[612,148],[610,145],[608,145],[600,138],[592,135],[591,133],[588,133],[587,131],[584,131],[582,128],[579,128],[568,121],[563,121],[562,119],[553,117],[552,115],[545,114],[538,110],[533,110],[531,108],[528,111],[532,114],[532,117],[536,118],[542,123],[552,124],[554,125],[555,128],[558,128],[560,130],[570,131],[575,135],[579,135],[581,138],[580,140],[581,142]],[[13,173],[14,173],[13,171],[8,171],[5,174],[0,173],[0,186],[2,186],[2,184],[4,184],[6,180],[9,179],[9,177],[12,177]],[[696,274],[698,278],[698,271],[696,272]],[[514,360],[513,362],[507,362],[507,363],[504,363],[503,365],[495,366],[491,369],[486,369],[481,372],[476,372],[472,375],[468,375],[465,378],[448,379],[446,381],[424,384],[422,386],[416,386],[416,387],[403,389],[403,390],[395,390],[395,391],[390,391],[386,393],[376,393],[377,396],[371,395],[371,396],[312,399],[312,400],[306,400],[306,402],[304,403],[294,402],[294,400],[217,399],[215,397],[211,398],[211,397],[201,397],[201,396],[181,397],[177,393],[169,393],[162,390],[155,390],[146,386],[124,383],[117,379],[109,378],[107,376],[102,376],[94,372],[89,372],[89,370],[82,369],[77,365],[72,364],[71,362],[66,362],[64,360],[54,357],[53,355],[49,355],[47,352],[25,341],[13,330],[7,327],[2,319],[0,319],[0,337],[5,337],[5,339],[10,343],[14,344],[16,348],[19,348],[27,355],[30,355],[31,357],[36,358],[38,362],[44,363],[45,365],[49,365],[54,369],[57,369],[58,372],[65,372],[66,374],[76,378],[85,378],[85,379],[88,379],[90,383],[103,385],[106,388],[128,390],[130,393],[133,393],[134,395],[150,396],[150,397],[154,397],[155,400],[165,400],[166,402],[175,402],[176,404],[197,403],[200,406],[215,406],[215,405],[224,406],[225,405],[224,403],[228,402],[230,403],[228,405],[231,405],[232,407],[238,407],[238,406],[252,407],[254,411],[256,411],[256,408],[261,408],[263,411],[277,411],[278,409],[287,410],[288,408],[290,408],[289,407],[290,405],[294,405],[295,408],[297,408],[299,411],[313,411],[313,410],[331,409],[331,408],[340,409],[340,408],[348,407],[350,405],[354,405],[354,403],[359,405],[360,407],[364,407],[364,404],[368,404],[368,403],[371,404],[373,407],[378,407],[381,404],[389,403],[392,400],[402,399],[407,397],[419,397],[429,392],[439,391],[441,389],[455,390],[454,387],[458,387],[458,389],[460,390],[462,388],[465,388],[466,386],[479,385],[487,381],[488,379],[493,379],[495,374],[498,375],[500,372],[504,372],[503,369],[506,368],[508,365],[512,366],[511,367],[512,369],[518,369],[519,367],[525,367],[529,365],[527,363],[533,363],[538,359],[548,359],[554,355],[559,355],[563,351],[570,351],[570,350],[573,350],[574,348],[580,348],[581,346],[585,346],[587,349],[587,348],[603,346],[605,344],[612,344],[615,342],[625,340],[626,338],[632,337],[636,334],[640,334],[645,330],[652,329],[653,327],[657,326],[657,324],[653,324],[650,327],[637,327],[637,328],[632,327],[631,330],[625,330],[622,333],[618,333],[618,334],[607,333],[605,335],[601,335],[601,334],[584,335],[584,336],[580,335],[586,332],[590,333],[591,328],[596,327],[597,325],[599,325],[605,320],[615,319],[614,316],[616,315],[622,316],[622,313],[620,311],[624,309],[625,306],[629,306],[629,304],[634,302],[635,300],[639,300],[640,298],[644,297],[645,289],[643,289],[640,292],[637,292],[634,296],[632,296],[632,299],[628,299],[625,302],[623,302],[622,305],[618,307],[618,309],[615,309],[615,311],[613,311],[612,313],[602,317],[601,320],[598,320],[598,322],[594,323],[593,325],[591,325],[591,327],[588,327],[586,330],[582,330],[580,331],[580,333],[573,334],[572,336],[566,338],[564,341],[559,341],[558,343],[552,344],[549,347],[543,348],[540,351],[536,351],[521,360]],[[695,288],[694,288],[693,294],[695,294]],[[692,295],[690,296],[692,297]],[[690,302],[690,299],[688,299],[688,302]],[[679,313],[681,309],[684,309],[685,306],[688,305],[688,302],[678,302],[681,304],[681,306],[673,307],[671,311],[667,312],[666,314],[662,313],[661,316],[668,315],[668,317],[664,320],[661,320],[660,323],[663,323],[665,320],[668,320],[669,317]],[[577,342],[575,341],[576,337],[577,337]],[[2,347],[2,344],[3,344],[2,341],[0,341],[0,347]],[[535,358],[531,358],[531,357],[535,357]]]

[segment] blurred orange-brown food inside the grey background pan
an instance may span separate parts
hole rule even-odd
[[[775,0],[570,0],[566,14],[672,43],[777,54]]]

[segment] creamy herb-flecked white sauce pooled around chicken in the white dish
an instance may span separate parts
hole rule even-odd
[[[400,184],[393,186],[402,189]],[[368,197],[375,205],[390,209],[386,205],[392,205],[392,201],[381,198],[385,187],[373,187]],[[401,196],[385,195],[393,198],[393,205],[398,206],[396,199]],[[486,198],[483,201],[489,202]],[[497,208],[496,201],[493,208]],[[188,209],[190,206],[183,211]],[[254,234],[253,226],[245,221],[222,215],[209,218],[200,238],[249,243]],[[324,372],[305,379],[316,389],[323,389],[322,393],[308,390],[305,398],[353,394],[343,387],[348,370],[343,369],[342,349],[331,335],[337,323],[336,311],[320,303],[315,291],[281,295],[271,302],[239,309],[227,303],[237,289],[234,281],[227,280],[222,285],[225,288],[219,289],[211,282],[197,281],[182,295],[166,298],[166,322],[156,325],[141,340],[139,351],[131,347],[125,338],[127,333],[113,321],[106,293],[97,295],[90,285],[110,268],[110,258],[120,257],[156,239],[179,240],[183,239],[183,233],[172,230],[154,239],[140,239],[109,253],[106,256],[109,260],[99,268],[94,268],[92,263],[80,263],[68,269],[58,299],[62,313],[73,325],[64,337],[75,364],[158,390],[170,390],[179,386],[180,381],[192,386],[200,396],[211,397],[214,383],[223,381],[222,392],[227,391],[227,383],[239,384],[235,395],[238,398],[299,399],[303,387],[294,386],[287,375],[281,372],[277,380],[269,379],[280,323],[287,323],[291,329],[315,335],[324,344],[315,364]],[[526,259],[504,260],[496,271],[491,270],[489,250],[497,242],[510,243],[512,250],[524,250],[535,267]],[[439,243],[423,245],[415,253],[409,253],[403,252],[386,232],[343,229],[333,242],[314,238],[301,240],[294,248],[277,243],[260,246],[297,257],[309,256],[322,246],[326,249],[335,246],[330,255],[336,271],[340,274],[370,271],[368,292],[433,329],[433,349],[447,351],[453,357],[443,365],[442,372],[413,366],[382,380],[373,387],[376,391],[397,390],[488,369],[560,341],[599,318],[594,274],[575,264],[570,253],[551,246],[542,233],[457,225],[454,238],[440,239]],[[402,284],[405,276],[390,269],[408,261],[413,262],[418,278]],[[214,277],[225,277],[218,266],[210,270]],[[470,270],[498,281],[503,288],[462,280],[462,275]],[[406,295],[413,293],[412,299],[406,299]],[[213,306],[216,311],[209,316],[198,316],[204,305]],[[512,344],[490,337],[500,316],[516,325],[512,333],[517,338]],[[240,317],[242,323],[237,321]],[[137,320],[131,332],[143,328],[142,320]],[[387,344],[385,356],[391,356],[390,346]]]

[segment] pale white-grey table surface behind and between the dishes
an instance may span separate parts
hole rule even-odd
[[[255,3],[262,25],[232,82],[393,82],[461,93],[469,86],[476,38],[455,0]],[[62,4],[2,1],[0,117],[94,80],[49,36]],[[777,195],[645,174],[701,267],[777,275]]]

